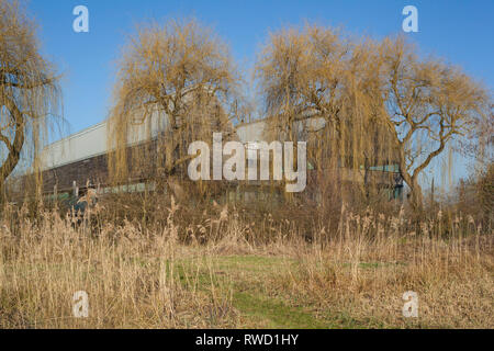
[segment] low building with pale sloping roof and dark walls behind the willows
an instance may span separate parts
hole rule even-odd
[[[321,122],[315,122],[315,125]],[[128,140],[128,148],[137,148],[143,145],[155,143],[155,137],[166,131],[167,124],[158,123],[151,118],[150,127],[133,126],[133,139]],[[251,123],[243,123],[235,126],[235,139],[242,141],[247,150],[247,166],[252,161],[252,150],[249,145],[265,140],[267,122],[263,120],[254,121]],[[48,145],[42,152],[42,177],[43,192],[45,194],[58,195],[69,193],[85,193],[86,188],[97,188],[99,192],[142,192],[145,189],[154,190],[153,182],[155,169],[153,167],[139,170],[130,174],[128,182],[114,186],[109,181],[108,154],[112,147],[109,146],[108,123],[102,122],[81,132],[72,134],[56,143]],[[254,151],[257,152],[257,151]],[[257,160],[257,159],[256,159]],[[314,161],[308,160],[307,172],[314,172],[319,169]],[[403,180],[400,177],[397,165],[383,165],[369,167],[367,170],[363,166],[360,169],[349,169],[340,167],[338,171],[341,179],[347,182],[364,183],[369,181],[369,174],[373,181],[379,183],[381,188],[388,189],[390,197],[400,199],[403,188]],[[311,181],[311,177],[307,177]],[[252,194],[262,193],[254,186],[259,186],[259,182],[243,182],[243,190],[238,190],[239,182],[229,184],[228,197],[250,199]],[[232,186],[236,190],[232,192]],[[238,196],[238,193],[246,194]],[[236,195],[233,193],[236,193]],[[247,194],[249,194],[247,196]],[[256,197],[255,196],[255,197]]]

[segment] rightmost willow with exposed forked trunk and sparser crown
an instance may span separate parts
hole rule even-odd
[[[420,210],[419,174],[486,123],[490,94],[459,68],[420,59],[403,37],[383,41],[380,56],[385,116],[400,149],[402,176],[412,190],[412,205]]]

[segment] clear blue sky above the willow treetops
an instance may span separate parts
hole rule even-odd
[[[72,31],[72,9],[79,4],[89,9],[89,33]],[[308,20],[381,37],[402,33],[407,4],[418,9],[419,32],[406,35],[424,53],[462,66],[494,88],[493,0],[30,0],[27,9],[41,27],[45,55],[64,75],[64,116],[74,133],[106,117],[114,61],[125,35],[146,20],[195,16],[249,67],[269,31],[282,25]],[[461,169],[456,173],[463,176]]]

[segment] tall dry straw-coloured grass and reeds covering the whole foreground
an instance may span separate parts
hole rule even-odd
[[[441,213],[409,231],[403,211],[343,208],[329,233],[324,220],[301,227],[267,214],[252,223],[226,206],[179,223],[183,210],[172,201],[161,225],[146,227],[94,213],[77,224],[43,208],[33,219],[5,206],[0,327],[266,327],[236,303],[245,291],[334,327],[494,327],[493,237],[473,218],[452,218],[446,235]],[[238,270],[218,263],[232,256],[283,263],[261,273],[240,259]],[[89,295],[88,318],[72,316],[77,291]],[[402,316],[405,291],[418,293],[419,318]]]

